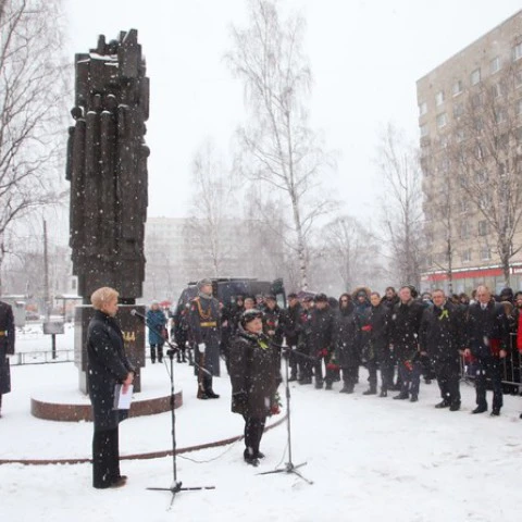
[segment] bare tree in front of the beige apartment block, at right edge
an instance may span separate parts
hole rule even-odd
[[[522,249],[515,241],[522,217],[521,87],[522,72],[508,64],[472,88],[451,144],[462,192],[475,217],[487,223],[488,233],[481,235],[492,239],[507,285],[510,260]]]

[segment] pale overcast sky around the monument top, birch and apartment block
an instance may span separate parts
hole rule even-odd
[[[307,20],[311,125],[336,151],[326,186],[353,215],[375,211],[380,130],[393,121],[418,138],[415,82],[520,10],[520,0],[285,0]],[[241,84],[223,55],[245,0],[65,0],[70,55],[138,29],[151,80],[149,216],[183,216],[195,151],[224,154],[244,121]],[[67,100],[72,107],[73,97]]]

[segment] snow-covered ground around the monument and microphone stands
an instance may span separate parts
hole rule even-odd
[[[176,410],[178,447],[239,435],[243,420],[229,412],[229,384],[215,380],[222,398],[198,401],[194,376],[175,364],[184,406]],[[286,424],[262,440],[258,468],[243,461],[243,443],[177,456],[185,486],[167,511],[172,458],[123,460],[125,487],[91,487],[90,464],[0,465],[0,521],[519,521],[522,398],[508,396],[500,418],[471,415],[474,390],[463,384],[459,412],[436,410],[436,383],[421,385],[417,403],[363,397],[365,372],[351,396],[291,385],[293,459],[314,484],[291,474],[259,476],[287,462]],[[0,459],[89,457],[92,426],[35,419],[29,398],[60,388],[76,397],[72,363],[12,369],[13,391],[4,396]],[[148,365],[147,387],[170,390],[163,365]],[[44,390],[44,391],[42,391]],[[282,390],[283,391],[283,390]],[[282,393],[282,396],[284,394]],[[490,397],[489,397],[490,400]],[[275,418],[273,420],[276,420]],[[271,420],[271,422],[273,421]],[[121,424],[123,456],[171,447],[171,418],[162,413]],[[286,451],[286,452],[285,452]]]

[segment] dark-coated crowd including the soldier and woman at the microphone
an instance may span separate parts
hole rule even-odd
[[[344,293],[287,296],[235,296],[223,304],[212,296],[212,282],[198,283],[198,295],[173,315],[173,340],[183,362],[194,348],[199,399],[215,399],[212,376],[225,360],[232,383],[232,411],[245,418],[245,460],[257,465],[266,417],[277,410],[282,352],[288,356],[289,381],[353,394],[359,370],[368,370],[363,395],[419,400],[421,378],[436,380],[436,408],[461,407],[462,371],[473,376],[476,405],[488,411],[486,390],[493,389],[490,414],[502,408],[502,370],[512,350],[522,353],[522,293],[509,288],[493,296],[486,286],[446,296],[442,289],[418,295],[413,286],[383,296],[366,287]],[[151,345],[152,346],[152,345]],[[189,348],[188,348],[189,349]],[[190,350],[192,351],[192,350]],[[189,358],[190,360],[190,358]],[[520,371],[520,368],[519,368]],[[522,418],[522,415],[521,415]]]

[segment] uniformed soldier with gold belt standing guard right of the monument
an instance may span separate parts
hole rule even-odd
[[[197,286],[198,296],[190,301],[188,324],[196,345],[198,399],[217,399],[220,396],[212,389],[212,376],[220,376],[220,302],[212,297],[212,281],[201,279]]]

